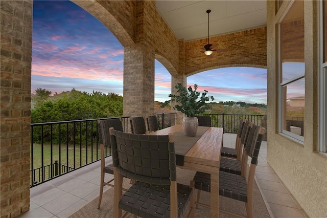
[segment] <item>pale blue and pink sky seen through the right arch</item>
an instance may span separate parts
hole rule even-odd
[[[229,67],[204,71],[188,77],[188,85],[197,83],[213,95],[215,101],[244,101],[267,104],[267,70]]]

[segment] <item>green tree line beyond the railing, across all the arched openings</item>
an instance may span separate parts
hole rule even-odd
[[[97,119],[123,116],[123,96],[114,93],[80,92],[74,88],[61,94],[38,88],[32,95],[31,123]],[[169,113],[170,105],[160,107],[154,102],[155,113]],[[266,114],[267,105],[220,101],[210,102],[213,114]]]

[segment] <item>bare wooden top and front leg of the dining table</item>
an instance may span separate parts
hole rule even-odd
[[[195,171],[206,172],[211,175],[211,194],[210,194],[210,214],[211,217],[219,217],[219,165],[221,156],[221,147],[223,144],[223,128],[199,126],[200,132],[198,139],[195,140],[190,149],[183,156],[183,163],[178,167],[191,169]],[[169,133],[180,134],[181,125],[174,125],[168,128],[160,129],[149,135],[168,135]],[[179,136],[179,141],[188,141],[190,136]],[[192,139],[191,139],[192,141]],[[175,151],[178,150],[178,141],[175,141]],[[177,156],[177,153],[176,153]],[[176,157],[177,159],[177,157]]]

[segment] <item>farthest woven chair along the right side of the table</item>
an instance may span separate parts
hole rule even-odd
[[[235,148],[222,147],[221,148],[221,156],[228,157],[228,158],[236,158],[237,160],[241,161],[242,144],[240,143],[241,142],[240,139],[241,139],[245,121],[246,121],[246,119],[241,119],[241,121],[239,123],[237,135],[236,135]]]

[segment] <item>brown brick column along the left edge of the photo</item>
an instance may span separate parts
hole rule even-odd
[[[1,1],[1,217],[30,208],[33,1]]]

